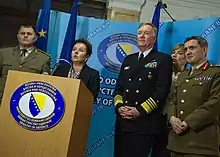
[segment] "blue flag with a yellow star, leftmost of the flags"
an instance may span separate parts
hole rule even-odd
[[[36,26],[38,39],[35,43],[35,46],[45,52],[47,52],[50,6],[51,0],[44,0],[43,8],[41,10],[40,17]]]

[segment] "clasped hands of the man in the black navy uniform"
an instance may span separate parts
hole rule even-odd
[[[133,120],[140,116],[140,112],[137,110],[137,108],[131,106],[121,106],[119,107],[118,112],[124,119]]]

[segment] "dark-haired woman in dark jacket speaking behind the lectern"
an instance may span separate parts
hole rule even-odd
[[[95,101],[99,93],[100,79],[99,72],[86,64],[91,54],[92,45],[87,40],[76,40],[72,48],[71,63],[57,64],[52,75],[82,80],[93,94]]]

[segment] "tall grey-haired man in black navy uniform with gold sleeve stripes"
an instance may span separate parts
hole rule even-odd
[[[114,92],[115,157],[166,156],[166,118],[163,108],[172,78],[172,59],[153,50],[157,29],[138,28],[140,52],[127,56]]]

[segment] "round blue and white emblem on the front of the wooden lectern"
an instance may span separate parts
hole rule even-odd
[[[41,131],[54,127],[62,119],[64,110],[62,95],[46,82],[25,83],[10,99],[13,118],[28,130]]]

